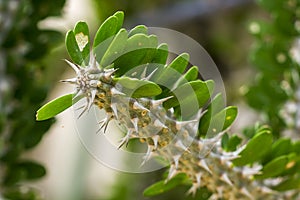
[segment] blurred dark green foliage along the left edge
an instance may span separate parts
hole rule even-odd
[[[35,111],[49,89],[41,59],[62,42],[62,35],[41,30],[38,23],[59,16],[64,3],[0,1],[0,196],[5,199],[40,198],[22,183],[43,177],[45,167],[21,155],[35,147],[54,122],[36,122]]]

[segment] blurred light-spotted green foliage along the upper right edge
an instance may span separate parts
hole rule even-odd
[[[259,0],[270,14],[268,19],[254,21],[249,29],[255,37],[250,60],[257,70],[254,83],[244,88],[248,104],[263,113],[276,137],[290,130],[298,134],[300,63],[300,1]]]

